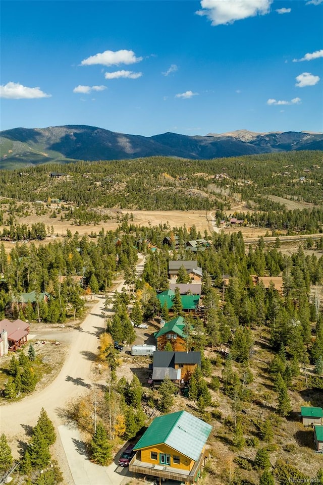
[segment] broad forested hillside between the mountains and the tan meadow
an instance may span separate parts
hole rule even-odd
[[[220,223],[232,201],[243,200],[250,209],[236,214],[243,224],[315,233],[323,221],[322,153],[212,160],[152,157],[1,171],[0,224],[12,227],[18,224],[15,217],[33,213],[77,225],[98,224],[111,217],[112,208],[213,210]],[[303,205],[287,209],[284,200]]]

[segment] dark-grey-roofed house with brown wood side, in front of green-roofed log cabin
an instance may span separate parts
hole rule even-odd
[[[201,367],[201,352],[159,352],[153,353],[152,382],[159,386],[166,377],[178,385],[184,385],[196,367]]]

